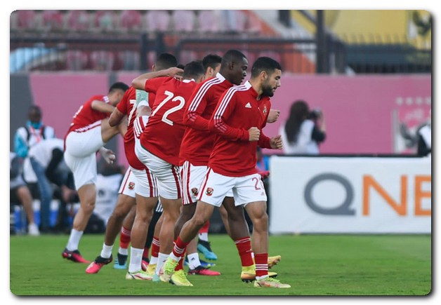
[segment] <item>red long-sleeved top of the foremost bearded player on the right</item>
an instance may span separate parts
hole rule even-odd
[[[270,97],[257,100],[249,81],[225,91],[209,121],[209,128],[216,133],[209,168],[229,177],[256,173],[257,146],[271,148],[270,138],[262,133],[270,108]],[[258,142],[249,142],[251,127],[261,130]]]

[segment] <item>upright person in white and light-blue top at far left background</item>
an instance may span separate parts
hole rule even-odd
[[[14,136],[15,154],[25,159],[23,163],[23,178],[27,184],[34,184],[34,186],[37,184],[37,177],[27,156],[28,151],[41,140],[55,137],[55,131],[51,126],[44,125],[42,116],[41,108],[37,105],[31,105],[27,112],[28,121],[25,126],[17,129]]]

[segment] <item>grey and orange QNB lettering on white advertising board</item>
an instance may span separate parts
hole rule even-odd
[[[334,182],[334,184],[336,182],[343,187],[345,193],[343,201],[332,208],[324,208],[323,203],[320,205],[315,201],[312,194],[317,184],[322,182]],[[354,185],[354,182],[343,175],[327,172],[312,177],[306,184],[303,195],[308,207],[322,215],[355,215],[354,205],[357,205],[357,202],[354,201],[354,198],[355,194],[360,194],[357,198],[361,199],[362,216],[371,215],[371,205],[378,206],[384,203],[389,205],[399,216],[431,216],[432,210],[423,208],[423,201],[429,202],[431,205],[432,191],[428,190],[427,185],[431,183],[431,175],[400,175],[400,179],[390,179],[387,184],[381,184],[371,175],[362,175],[362,185],[359,186]],[[390,189],[395,189],[392,191],[394,194],[390,194]],[[333,191],[335,189],[328,187],[327,196],[333,196]],[[372,199],[371,194],[374,192],[378,195],[376,198],[380,198],[379,200]],[[409,196],[409,194],[413,196]]]

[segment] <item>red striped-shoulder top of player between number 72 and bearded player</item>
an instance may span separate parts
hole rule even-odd
[[[180,145],[180,161],[189,161],[192,165],[202,166],[209,163],[213,150],[214,135],[209,130],[209,120],[219,97],[228,88],[234,86],[221,74],[199,83],[190,97],[183,116],[185,128]]]

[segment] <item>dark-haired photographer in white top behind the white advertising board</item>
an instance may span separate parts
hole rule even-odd
[[[320,154],[319,144],[326,139],[323,112],[310,111],[305,101],[297,100],[291,105],[289,118],[280,127],[279,134],[284,154]]]

